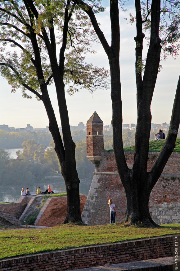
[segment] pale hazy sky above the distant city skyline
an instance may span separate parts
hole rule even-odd
[[[124,19],[129,12],[134,12],[133,1],[127,6],[128,11],[119,10],[120,20],[120,69],[123,104],[123,123],[136,123],[136,83],[135,83],[135,24],[132,26]],[[101,30],[110,44],[110,18],[109,7],[106,12],[98,14],[97,21],[101,24]],[[95,55],[87,55],[87,62],[109,69],[107,56],[102,45],[95,44],[93,48],[97,51]],[[147,50],[144,45],[145,52]],[[154,96],[151,104],[152,123],[170,122],[173,108],[173,100],[179,78],[180,56],[177,59],[169,57],[165,62],[161,62],[163,69],[158,74]],[[0,124],[7,124],[9,127],[26,127],[30,124],[34,128],[44,128],[48,126],[48,118],[43,103],[37,101],[35,97],[25,99],[20,90],[11,93],[11,85],[0,76]],[[50,86],[50,97],[56,113],[58,125],[61,121],[58,113],[56,93],[53,85]],[[110,99],[110,89],[97,89],[94,93],[87,90],[80,90],[74,96],[66,93],[66,102],[69,111],[70,125],[78,126],[79,122],[86,124],[94,111],[100,116],[104,125],[110,125],[112,118],[112,105]]]

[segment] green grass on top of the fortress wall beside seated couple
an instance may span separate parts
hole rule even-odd
[[[151,140],[149,142],[149,151],[150,152],[158,152],[162,149],[164,145],[165,139],[161,140]],[[113,150],[105,150],[105,151],[113,151]],[[134,145],[129,147],[124,147],[124,151],[134,151]],[[176,139],[176,147],[173,151],[179,152],[180,151],[180,138]]]

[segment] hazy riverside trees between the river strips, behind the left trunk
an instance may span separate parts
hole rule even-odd
[[[0,149],[0,183],[2,185],[29,182],[32,179],[39,181],[50,172],[61,173],[53,140],[46,147],[35,139],[28,139],[22,143],[22,147],[23,151],[16,152],[17,159],[11,159],[8,151]],[[76,142],[76,166],[80,178],[92,178],[94,165],[86,158],[85,139]]]

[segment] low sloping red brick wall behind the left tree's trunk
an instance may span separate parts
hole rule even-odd
[[[86,196],[80,195],[81,213],[86,202]],[[35,221],[36,226],[56,226],[65,220],[67,212],[67,197],[50,197],[41,209]]]

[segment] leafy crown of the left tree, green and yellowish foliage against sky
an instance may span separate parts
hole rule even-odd
[[[64,14],[68,12],[67,44],[64,64],[64,80],[70,95],[87,88],[109,88],[109,71],[94,67],[85,61],[92,50],[92,42],[98,42],[91,30],[90,21],[70,1],[0,1],[0,72],[12,86],[21,88],[23,96],[30,98],[29,90],[42,98],[43,84],[53,83],[50,52],[56,56],[58,67],[62,65]],[[96,7],[96,11],[103,10]],[[35,43],[36,46],[35,46]],[[14,51],[15,50],[15,51]],[[40,62],[35,50],[39,51]],[[59,52],[58,52],[59,51]],[[38,62],[38,64],[37,64]],[[38,76],[41,70],[40,78]]]

